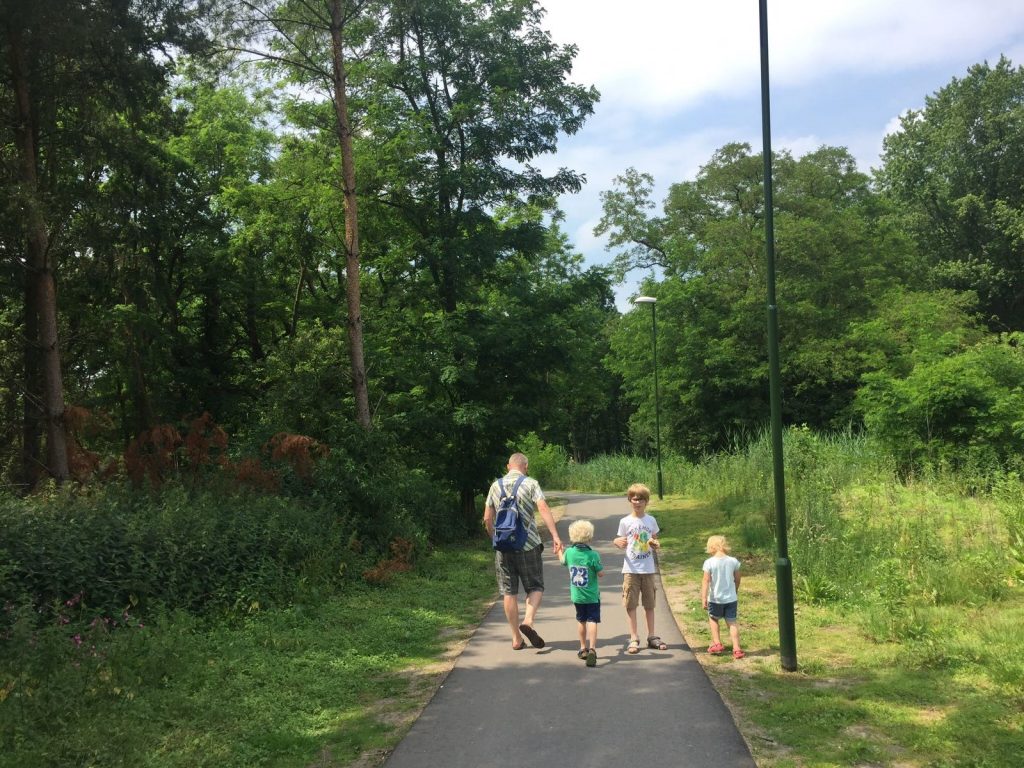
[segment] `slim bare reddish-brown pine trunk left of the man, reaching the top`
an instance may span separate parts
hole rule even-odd
[[[355,161],[352,157],[352,129],[348,120],[345,54],[342,48],[344,0],[331,3],[331,47],[334,66],[334,112],[341,143],[341,176],[345,196],[345,298],[348,303],[348,355],[355,395],[355,420],[370,429],[370,395],[362,359],[362,312],[359,291],[359,229],[355,199]]]

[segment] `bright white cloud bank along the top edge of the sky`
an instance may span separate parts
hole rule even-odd
[[[578,82],[604,100],[679,108],[708,94],[757,87],[758,4],[681,0],[542,0],[554,39],[575,43]],[[768,3],[772,83],[799,85],[848,72],[898,73],[1020,47],[1020,0],[773,0]]]

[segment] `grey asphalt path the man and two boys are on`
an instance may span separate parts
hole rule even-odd
[[[513,650],[502,603],[496,602],[386,767],[753,767],[731,714],[686,646],[660,589],[654,625],[669,650],[626,652],[623,553],[611,544],[620,518],[630,512],[625,497],[568,499],[559,536],[568,544],[569,523],[591,520],[593,546],[604,565],[597,667],[577,658],[568,571],[548,544],[545,596],[535,624],[545,647]],[[520,594],[520,615],[523,602]],[[643,643],[642,607],[638,629]]]

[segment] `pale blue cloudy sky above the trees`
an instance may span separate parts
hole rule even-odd
[[[563,196],[562,226],[588,264],[599,194],[627,168],[650,173],[655,201],[693,179],[730,141],[762,148],[758,0],[540,0],[543,26],[579,47],[571,80],[601,93],[584,128],[542,159],[587,177]],[[767,0],[771,144],[796,157],[845,146],[861,171],[907,110],[1000,54],[1024,66],[1024,0]],[[631,279],[642,275],[633,274]],[[616,293],[629,308],[635,280]]]

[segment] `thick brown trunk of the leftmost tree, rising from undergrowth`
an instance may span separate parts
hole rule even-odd
[[[68,436],[63,424],[63,378],[60,372],[60,347],[57,338],[57,299],[53,266],[50,260],[49,233],[39,201],[36,175],[36,143],[32,123],[29,74],[25,41],[20,30],[8,28],[7,53],[15,101],[15,140],[18,152],[22,206],[25,211],[27,240],[27,281],[32,300],[27,302],[26,323],[35,313],[38,324],[39,361],[42,367],[42,411],[46,425],[47,465],[57,482],[68,479]],[[33,306],[32,304],[35,304]],[[32,343],[30,339],[28,343]],[[29,373],[29,372],[27,372]]]

